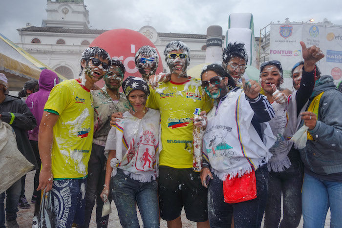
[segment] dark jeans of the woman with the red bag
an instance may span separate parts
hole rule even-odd
[[[235,228],[259,228],[267,201],[267,165],[256,170],[256,199],[228,204],[224,202],[223,182],[214,175],[209,182],[208,215],[211,228],[231,227],[234,214]]]

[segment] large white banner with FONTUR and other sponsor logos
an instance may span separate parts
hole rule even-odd
[[[301,46],[316,45],[325,57],[317,63],[322,75],[332,75],[335,83],[342,80],[342,28],[312,24],[271,24],[270,60],[278,60],[284,70],[284,86],[292,89],[290,73],[302,61]]]

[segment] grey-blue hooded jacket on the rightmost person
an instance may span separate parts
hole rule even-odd
[[[336,89],[331,76],[321,76],[315,83],[308,106],[321,92],[324,93],[317,123],[309,130],[314,140],[308,140],[306,147],[299,150],[300,157],[305,173],[327,181],[342,182],[342,93]],[[303,121],[299,127],[302,125]]]

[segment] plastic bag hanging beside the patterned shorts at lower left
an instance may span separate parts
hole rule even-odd
[[[55,220],[50,192],[43,191],[39,213],[33,217],[32,228],[55,228]]]

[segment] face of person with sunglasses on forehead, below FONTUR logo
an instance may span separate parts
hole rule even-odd
[[[273,93],[272,84],[279,88],[280,84],[283,83],[283,79],[278,67],[274,65],[265,66],[260,73],[260,83],[263,90],[267,93]]]

